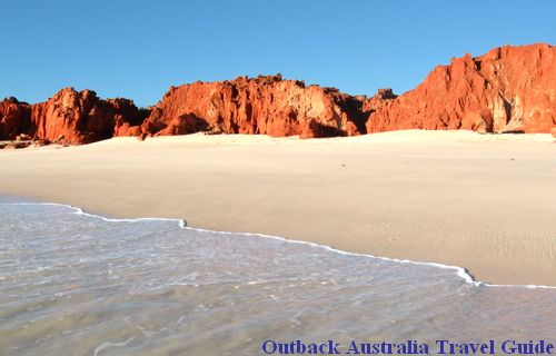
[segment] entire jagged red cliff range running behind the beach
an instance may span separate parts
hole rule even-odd
[[[198,131],[328,137],[414,128],[549,132],[554,126],[556,50],[549,44],[453,59],[399,97],[390,89],[353,97],[277,75],[171,87],[148,110],[72,88],[36,105],[0,101],[0,140],[24,134],[73,145]]]

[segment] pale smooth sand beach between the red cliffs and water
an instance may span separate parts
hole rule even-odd
[[[457,265],[490,283],[556,286],[549,135],[192,135],[1,150],[0,194]]]

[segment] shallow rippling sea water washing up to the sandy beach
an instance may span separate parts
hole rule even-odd
[[[0,199],[0,355],[264,355],[265,340],[556,342],[556,289]]]

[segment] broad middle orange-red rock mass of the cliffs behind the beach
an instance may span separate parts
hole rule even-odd
[[[141,126],[146,135],[197,131],[327,137],[365,134],[363,102],[281,76],[171,87]]]

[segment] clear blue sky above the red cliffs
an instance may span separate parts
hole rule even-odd
[[[170,85],[282,73],[401,93],[502,44],[556,44],[556,1],[0,0],[0,97],[63,87],[156,103]]]

